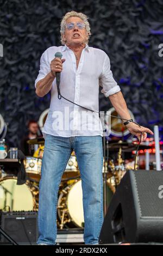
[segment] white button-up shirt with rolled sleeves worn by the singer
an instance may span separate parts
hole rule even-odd
[[[98,111],[99,86],[106,97],[119,92],[121,89],[112,77],[108,55],[98,48],[85,45],[80,61],[76,64],[73,51],[65,46],[52,46],[43,52],[40,60],[39,75],[36,83],[51,71],[51,61],[56,52],[62,53],[66,59],[62,64],[60,77],[60,92],[66,97],[83,107]],[[78,107],[65,99],[58,99],[56,80],[51,88],[51,105],[43,135],[48,133],[54,136],[103,136],[103,127],[98,113],[92,113]]]

